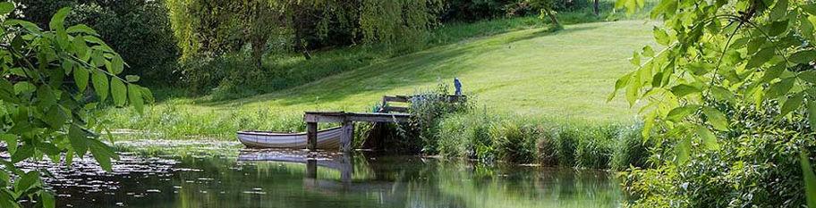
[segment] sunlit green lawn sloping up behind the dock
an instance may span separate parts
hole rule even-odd
[[[635,110],[622,98],[607,103],[606,97],[615,80],[633,69],[627,60],[633,50],[652,43],[652,24],[594,22],[566,25],[557,32],[533,28],[471,38],[266,95],[220,102],[169,98],[143,116],[114,110],[113,127],[175,125],[181,135],[210,128],[200,133],[222,136],[243,128],[297,130],[270,122],[285,117],[283,122],[296,123],[303,111],[311,110],[368,112],[381,96],[434,89],[439,83],[452,84],[455,77],[462,80],[465,94],[476,96],[489,112],[629,122],[636,118]]]

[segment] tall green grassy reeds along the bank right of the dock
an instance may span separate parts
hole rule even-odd
[[[576,121],[553,121],[484,112],[457,113],[438,127],[439,154],[468,157],[481,162],[495,160],[538,163],[546,166],[608,169],[642,167],[648,146],[635,129],[620,125]],[[618,155],[619,154],[619,155]],[[613,162],[619,160],[620,162]],[[625,160],[624,160],[625,159]]]

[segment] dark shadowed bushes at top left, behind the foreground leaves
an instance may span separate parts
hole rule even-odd
[[[70,24],[87,24],[108,40],[107,44],[122,55],[129,74],[142,77],[150,84],[163,84],[179,78],[174,75],[179,56],[167,18],[164,1],[130,0],[19,0],[23,18],[48,28],[51,15],[59,8],[71,6]]]

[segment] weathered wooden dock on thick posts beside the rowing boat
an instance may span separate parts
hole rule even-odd
[[[354,139],[354,122],[406,122],[411,114],[404,112],[305,112],[307,148],[317,150],[318,123],[341,123],[343,131],[340,136],[340,151],[352,151]]]

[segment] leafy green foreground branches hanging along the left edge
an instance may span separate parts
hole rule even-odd
[[[55,13],[48,30],[30,21],[11,19],[13,3],[0,3],[0,138],[10,160],[0,160],[0,207],[19,207],[19,200],[54,207],[54,195],[43,189],[41,171],[21,171],[23,160],[63,161],[89,152],[106,171],[117,159],[97,132],[107,131],[90,113],[112,100],[142,111],[152,100],[136,76],[117,77],[126,65],[122,57],[87,25],[65,28],[64,8]],[[96,95],[90,94],[90,91]],[[110,98],[108,98],[110,97]],[[110,134],[107,134],[110,138]],[[64,155],[64,156],[63,156]],[[8,173],[12,173],[9,175]],[[11,182],[12,178],[14,182]]]

